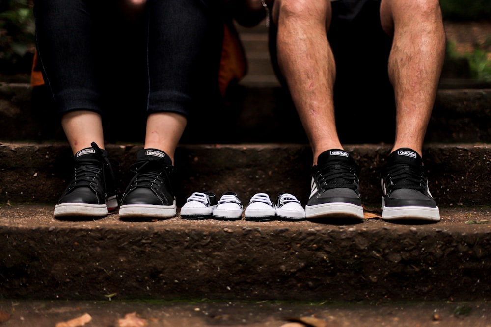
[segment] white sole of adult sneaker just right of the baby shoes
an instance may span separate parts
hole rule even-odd
[[[343,202],[307,205],[305,218],[358,218],[364,219],[363,208],[359,205]]]

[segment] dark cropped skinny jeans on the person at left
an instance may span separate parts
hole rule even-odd
[[[104,90],[112,77],[105,68],[111,56],[125,55],[120,53],[124,47],[105,49],[114,33],[123,32],[111,26],[118,1],[34,1],[37,50],[60,114],[72,110],[104,114],[108,103]],[[146,66],[147,113],[165,111],[188,117],[200,96],[218,95],[220,2],[147,0],[141,35],[146,42],[135,44],[146,48],[142,49],[146,65],[127,63]],[[124,42],[124,36],[120,39]]]

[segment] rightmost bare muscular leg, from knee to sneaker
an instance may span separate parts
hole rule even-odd
[[[411,148],[421,155],[445,55],[438,0],[382,0],[381,22],[394,37],[388,65],[397,110],[392,151]]]

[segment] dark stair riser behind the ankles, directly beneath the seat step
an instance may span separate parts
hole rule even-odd
[[[110,112],[105,120],[108,140],[142,142],[144,101],[135,96],[121,97],[113,102],[117,111]],[[349,131],[351,137],[347,142],[393,142],[393,132],[387,127],[393,126],[393,110],[380,112],[378,106],[381,103],[376,102],[356,102],[350,108],[362,111],[353,112],[346,122],[338,122],[338,132]],[[128,119],[130,113],[132,118]],[[198,115],[190,119],[189,128],[183,136],[185,143],[306,141],[298,114],[288,95],[279,87],[245,87],[234,94],[229,107],[217,108],[212,115]],[[226,125],[218,124],[217,117],[220,115],[226,115]],[[357,119],[353,120],[354,117]],[[490,121],[491,89],[439,90],[426,140],[491,142]],[[0,139],[64,139],[59,117],[46,92],[38,90],[33,98],[28,84],[0,83]]]

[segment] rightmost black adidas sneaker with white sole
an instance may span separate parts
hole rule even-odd
[[[381,177],[382,219],[440,220],[423,172],[423,159],[416,151],[401,148],[392,152]]]

